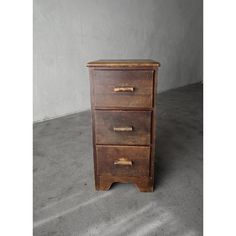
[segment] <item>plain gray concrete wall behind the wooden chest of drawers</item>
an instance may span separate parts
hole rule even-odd
[[[202,0],[34,0],[34,121],[89,109],[86,62],[161,62],[158,91],[202,80]]]

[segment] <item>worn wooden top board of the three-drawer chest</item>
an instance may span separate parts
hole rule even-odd
[[[88,67],[159,67],[160,63],[154,60],[97,60],[87,63]]]

